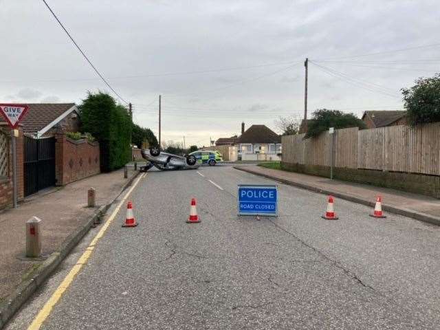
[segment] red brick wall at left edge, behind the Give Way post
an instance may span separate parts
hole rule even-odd
[[[5,125],[0,126],[0,133],[8,137],[8,176],[0,177],[0,210],[12,206],[12,148],[10,142],[10,128]],[[19,137],[16,138],[17,144],[17,199],[21,201],[24,196],[23,180],[23,131],[19,128]]]

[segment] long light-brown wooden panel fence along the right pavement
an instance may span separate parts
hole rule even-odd
[[[330,166],[331,138],[336,167],[440,175],[440,122],[283,136],[283,162]]]

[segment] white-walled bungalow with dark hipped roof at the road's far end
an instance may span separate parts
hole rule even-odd
[[[235,142],[241,160],[280,160],[281,135],[265,125],[252,125],[245,131],[242,123],[241,131]]]

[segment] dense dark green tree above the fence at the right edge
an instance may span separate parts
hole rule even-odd
[[[440,74],[418,78],[414,86],[402,88],[401,94],[410,124],[440,122]]]

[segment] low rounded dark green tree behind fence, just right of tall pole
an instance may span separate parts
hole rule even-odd
[[[305,138],[320,135],[328,131],[330,127],[335,129],[347,129],[348,127],[359,127],[365,129],[366,125],[353,113],[343,113],[339,110],[318,109],[313,113],[314,117],[307,123]]]

